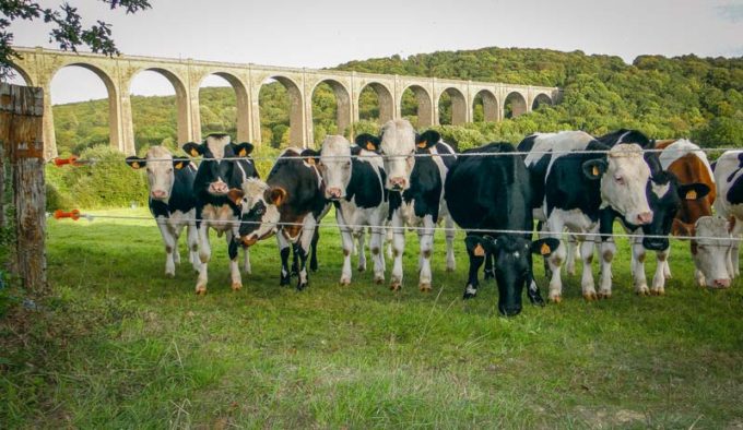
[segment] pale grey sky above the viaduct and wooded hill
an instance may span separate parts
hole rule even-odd
[[[627,62],[642,53],[743,56],[743,0],[151,0],[153,8],[135,15],[68,1],[86,22],[113,24],[122,53],[153,57],[322,68],[488,46],[580,49]],[[11,26],[16,46],[55,48],[48,29]],[[135,77],[132,93],[174,91],[149,72]],[[55,104],[105,96],[103,83],[80,68],[63,69],[52,83]]]

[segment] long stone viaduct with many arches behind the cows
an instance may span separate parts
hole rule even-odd
[[[338,104],[338,129],[345,130],[358,121],[358,97],[369,86],[379,99],[379,121],[401,117],[402,94],[410,88],[417,99],[418,127],[438,123],[438,101],[444,93],[451,99],[451,122],[473,120],[477,95],[483,100],[486,121],[499,121],[508,101],[511,115],[531,111],[540,103],[558,101],[556,87],[512,85],[493,82],[444,80],[436,77],[369,74],[335,70],[311,70],[229,62],[196,61],[149,57],[106,57],[43,48],[16,48],[22,56],[14,69],[27,85],[44,88],[44,142],[47,158],[57,156],[51,111],[51,80],[68,65],[93,71],[108,91],[110,144],[125,154],[134,154],[134,130],[131,115],[130,83],[141,71],[161,73],[174,86],[178,117],[178,142],[201,140],[199,87],[215,74],[234,88],[237,99],[237,140],[260,144],[260,111],[258,97],[261,85],[274,80],[286,89],[291,100],[290,136],[295,145],[312,144],[312,93],[317,85],[328,83]]]

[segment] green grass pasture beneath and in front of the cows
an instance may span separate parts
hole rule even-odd
[[[461,300],[461,237],[449,274],[437,236],[429,295],[416,287],[413,235],[399,294],[370,271],[338,285],[334,228],[321,230],[307,290],[279,287],[271,239],[233,292],[213,238],[209,294],[197,297],[187,264],[164,277],[151,222],[50,220],[48,231],[52,297],[0,320],[2,428],[743,425],[743,286],[696,287],[685,242],[673,242],[664,297],[635,296],[620,241],[610,300],[585,302],[568,276],[561,304],[505,319],[493,284]]]

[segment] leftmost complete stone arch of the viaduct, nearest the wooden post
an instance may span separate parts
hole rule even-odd
[[[48,93],[44,97],[45,108],[44,108],[44,139],[45,139],[45,153],[48,157],[57,156],[57,132],[55,130],[54,120],[54,109],[51,99],[51,86],[54,84],[55,77],[63,69],[68,68],[82,68],[90,72],[93,72],[103,82],[106,87],[106,97],[108,99],[108,143],[116,150],[127,153],[125,147],[125,142],[121,138],[121,121],[120,121],[120,105],[118,103],[120,97],[119,87],[115,84],[111,75],[104,69],[96,67],[95,64],[82,62],[82,61],[70,61],[60,64],[49,74],[49,81],[45,87],[45,92]]]

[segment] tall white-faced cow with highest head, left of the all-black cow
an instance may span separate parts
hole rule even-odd
[[[453,220],[444,202],[444,181],[449,166],[456,160],[455,151],[441,142],[435,131],[416,135],[413,126],[404,119],[385,123],[380,141],[387,172],[385,187],[390,191],[389,218],[393,229],[394,263],[390,288],[399,290],[402,286],[404,227],[411,226],[417,228],[420,241],[418,288],[431,291],[434,231],[441,218],[447,227],[447,271],[455,270]]]

